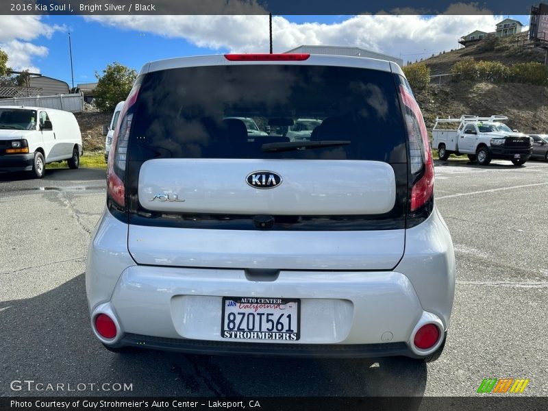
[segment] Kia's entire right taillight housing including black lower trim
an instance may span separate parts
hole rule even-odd
[[[404,79],[399,84],[399,95],[409,143],[409,228],[421,223],[434,208],[434,161],[423,114]]]

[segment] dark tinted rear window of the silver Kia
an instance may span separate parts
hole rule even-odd
[[[297,65],[158,71],[143,79],[133,119],[130,160],[406,162],[395,82],[382,71]],[[306,145],[291,147],[297,129],[310,133],[299,136]],[[274,144],[266,149],[267,143]]]

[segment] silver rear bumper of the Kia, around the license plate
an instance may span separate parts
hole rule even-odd
[[[406,230],[406,253],[393,270],[281,270],[271,281],[242,269],[136,265],[127,252],[127,225],[103,214],[88,252],[90,322],[101,342],[187,353],[260,356],[424,357],[449,326],[455,284],[453,247],[436,210]],[[223,297],[300,299],[297,342],[231,340],[221,336]],[[102,338],[94,320],[107,314],[116,337]],[[440,340],[412,344],[425,323]]]

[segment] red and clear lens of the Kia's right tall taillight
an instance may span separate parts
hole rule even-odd
[[[429,201],[434,194],[434,162],[421,109],[414,97],[401,84],[399,92],[403,105],[410,111],[409,114],[406,113],[406,126],[411,146],[411,171],[415,173],[424,167],[423,176],[411,188],[410,211],[415,211]]]

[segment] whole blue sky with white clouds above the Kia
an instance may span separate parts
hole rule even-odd
[[[14,17],[0,16],[0,25]],[[6,30],[0,34],[0,48],[8,52],[12,67],[37,69],[69,86],[69,32],[75,85],[95,82],[95,71],[114,61],[138,70],[147,61],[182,55],[268,52],[265,16],[140,17],[34,16],[34,35],[15,28],[10,37]],[[274,45],[275,51],[301,44],[360,46],[414,61],[457,48],[458,37],[474,29],[493,31],[494,22],[504,17],[275,16]],[[511,17],[528,24],[528,16]],[[12,27],[20,25],[12,21]]]

